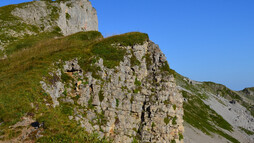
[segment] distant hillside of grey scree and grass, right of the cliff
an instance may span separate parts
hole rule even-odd
[[[253,101],[246,100],[243,91],[171,73],[184,97],[185,142],[254,141]]]

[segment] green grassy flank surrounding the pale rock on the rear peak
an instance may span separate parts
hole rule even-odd
[[[32,47],[35,45],[36,42],[40,41],[40,39],[50,39],[55,36],[59,36],[60,28],[55,27],[54,23],[59,17],[59,8],[52,5],[52,3],[60,2],[60,0],[57,0],[55,2],[51,0],[45,0],[47,4],[47,8],[51,10],[51,13],[45,17],[48,21],[51,21],[51,32],[44,31],[44,27],[40,27],[38,25],[31,25],[26,24],[25,21],[23,21],[21,18],[13,16],[11,12],[16,8],[22,8],[26,5],[32,5],[33,2],[26,2],[21,4],[15,4],[15,5],[8,5],[4,7],[0,7],[0,42],[3,44],[6,44],[7,47],[5,47],[6,51],[0,51],[0,57],[3,56],[3,54],[10,55],[11,53],[21,50],[27,47]],[[65,0],[68,1],[68,0]],[[28,34],[19,35],[19,36],[12,36],[10,34],[10,31],[13,31],[14,33],[27,33],[27,31],[30,31],[30,33],[33,33],[35,36],[31,36]],[[53,31],[53,32],[52,32]],[[44,34],[40,34],[41,37],[38,37],[37,35],[41,32],[44,32]],[[13,43],[15,41],[15,43]],[[28,42],[30,41],[30,42]],[[9,43],[12,43],[9,45]],[[23,44],[25,43],[25,44]],[[19,45],[17,45],[19,44]],[[6,46],[5,45],[5,46]]]

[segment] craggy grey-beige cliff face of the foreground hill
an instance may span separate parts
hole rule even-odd
[[[95,57],[96,71],[85,74],[79,59],[55,63],[50,74],[56,80],[41,82],[53,106],[72,104],[70,120],[117,143],[183,142],[182,95],[165,55],[151,41],[118,48],[126,49],[126,55],[114,69],[105,67],[100,57]],[[61,80],[64,74],[72,80]]]

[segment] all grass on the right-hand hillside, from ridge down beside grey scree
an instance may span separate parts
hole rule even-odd
[[[237,141],[235,138],[226,134],[220,129],[222,128],[228,131],[233,131],[233,127],[202,101],[202,99],[208,98],[208,95],[204,94],[205,91],[217,94],[217,91],[214,90],[215,86],[221,85],[207,82],[193,86],[187,81],[183,80],[184,77],[176,73],[174,70],[171,70],[171,73],[174,74],[177,85],[193,93],[191,94],[186,91],[182,91],[183,97],[188,100],[188,102],[184,102],[184,121],[206,133],[207,135],[216,133],[233,143],[239,143],[239,141]],[[225,94],[226,92],[229,91],[224,90],[222,93]],[[230,94],[230,96],[235,97],[236,95]],[[236,96],[236,98],[238,98],[238,96]]]

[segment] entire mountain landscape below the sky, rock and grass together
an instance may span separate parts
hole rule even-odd
[[[254,142],[253,88],[178,74],[145,33],[104,38],[88,0],[4,6],[0,23],[0,142]]]

